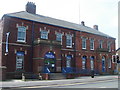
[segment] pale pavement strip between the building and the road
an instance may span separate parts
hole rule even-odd
[[[63,85],[71,83],[80,83],[80,82],[94,82],[99,80],[112,80],[118,79],[118,75],[107,75],[107,76],[95,76],[91,78],[90,76],[77,77],[75,79],[62,79],[62,80],[10,80],[0,82],[0,88],[9,89],[9,88],[18,88],[18,87],[32,87],[32,86],[48,86],[48,85]]]

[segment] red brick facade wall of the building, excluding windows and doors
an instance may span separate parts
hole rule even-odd
[[[28,26],[27,29],[27,36],[26,36],[26,43],[20,43],[17,41],[17,27],[16,25],[24,25]],[[67,28],[17,19],[17,18],[10,18],[5,17],[5,27],[4,27],[4,33],[3,33],[3,42],[6,40],[6,33],[10,32],[9,36],[9,54],[8,56],[5,56],[5,44],[3,44],[2,50],[2,64],[7,66],[8,72],[14,72],[15,71],[15,64],[16,64],[16,51],[26,51],[27,54],[25,54],[25,62],[24,67],[26,72],[39,72],[40,66],[42,67],[44,65],[44,55],[45,53],[51,51],[50,45],[34,45],[33,52],[32,52],[32,29],[34,28],[34,40],[40,38],[40,28],[44,29],[46,27],[46,30],[49,30],[49,40],[56,40],[56,34],[55,32],[61,32],[64,33],[63,35],[63,42],[62,46],[58,47],[57,45],[53,46],[52,51],[55,52],[56,59],[57,60],[56,66],[62,67],[66,66],[66,55],[73,55],[72,58],[72,67],[82,68],[82,56],[87,56],[87,68],[90,69],[90,56],[95,57],[95,69],[101,70],[101,55],[105,55],[106,57],[111,57],[112,54],[115,54],[115,51],[112,51],[111,53],[108,52],[96,52],[96,49],[99,47],[99,40],[104,40],[103,48],[107,48],[107,41],[112,42],[112,50],[115,50],[115,39],[112,38],[106,38],[99,35],[94,35],[86,32],[80,32],[75,31]],[[72,48],[66,48],[66,34],[73,35],[73,47]],[[81,37],[87,37],[87,49],[82,50],[82,38]],[[90,38],[94,38],[94,51],[90,50]],[[33,59],[32,59],[33,55]],[[62,56],[62,57],[61,57]],[[106,60],[108,59],[106,58]],[[62,62],[62,63],[61,63]],[[76,63],[75,63],[76,62]],[[106,64],[107,65],[107,64]],[[12,67],[11,67],[12,66]],[[114,65],[112,64],[112,69]],[[33,68],[33,69],[32,69]]]

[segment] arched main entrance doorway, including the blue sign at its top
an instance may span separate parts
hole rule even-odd
[[[47,72],[55,72],[55,54],[48,52],[45,54],[45,68]]]

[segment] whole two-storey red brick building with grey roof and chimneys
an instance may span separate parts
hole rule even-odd
[[[26,11],[5,14],[0,21],[0,66],[13,78],[20,72],[111,74],[115,38],[93,28]],[[4,75],[4,76],[5,76]]]

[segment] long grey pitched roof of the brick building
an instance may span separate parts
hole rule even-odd
[[[55,19],[55,18],[51,18],[51,17],[38,15],[38,14],[31,14],[26,11],[5,14],[4,16],[16,17],[16,18],[21,18],[21,19],[25,19],[25,20],[31,20],[31,21],[35,21],[35,22],[51,24],[51,25],[55,25],[55,26],[60,26],[60,27],[64,27],[64,28],[79,30],[82,32],[87,32],[87,33],[92,33],[92,34],[96,34],[96,35],[100,35],[100,36],[113,38],[107,34],[104,34],[98,30],[95,30],[95,29],[87,27],[87,26],[82,26],[80,24],[75,24],[75,23],[64,21],[64,20],[59,20],[59,19]]]

